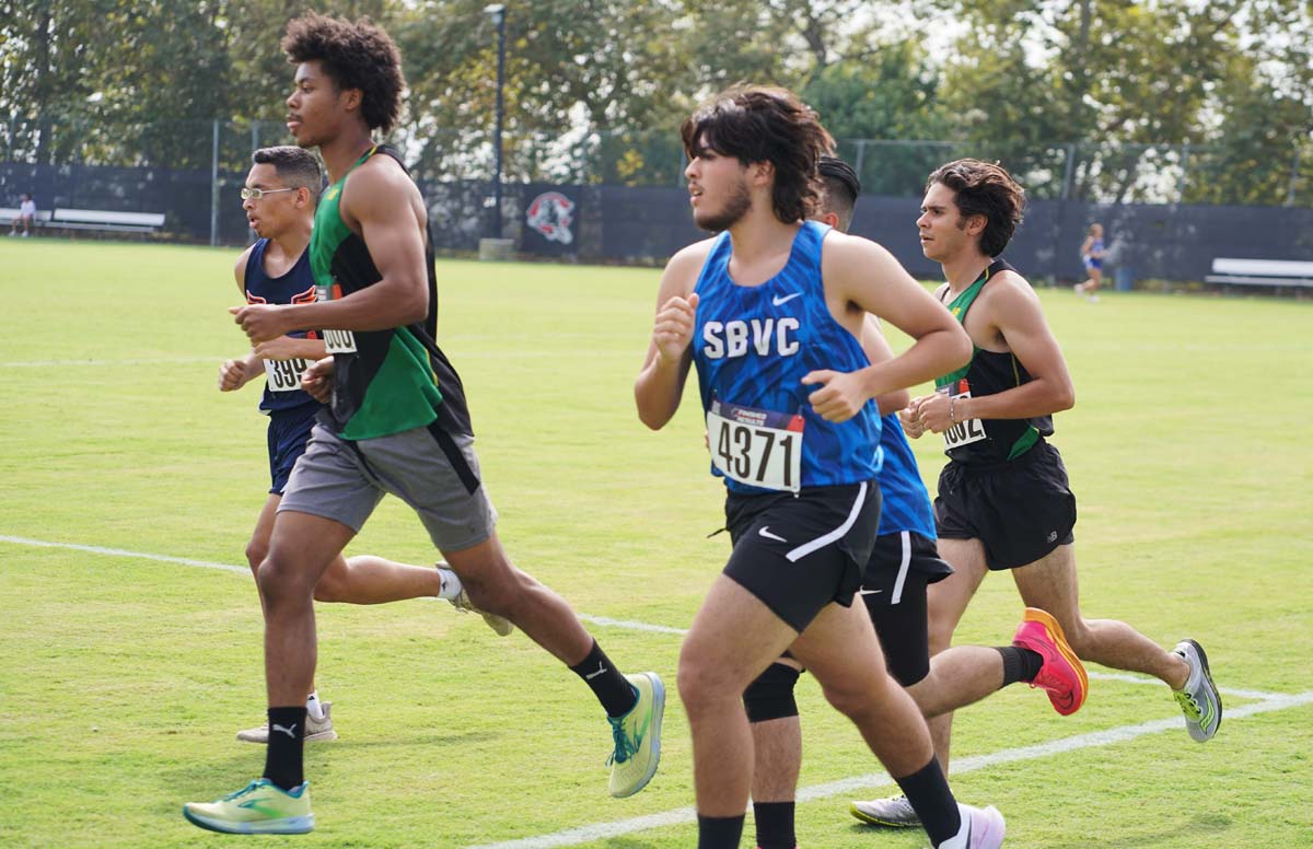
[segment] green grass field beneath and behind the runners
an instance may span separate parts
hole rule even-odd
[[[225,312],[234,259],[0,240],[3,846],[235,841],[180,814],[263,765],[234,740],[264,716],[243,547],[268,488],[257,388],[215,388],[244,348]],[[678,630],[729,543],[706,538],[721,491],[696,396],[660,433],[633,409],[658,273],[439,274],[440,344],[469,387],[500,534],[617,663],[666,677],[662,769],[611,799],[596,703],[520,634],[437,602],[320,605],[318,682],[341,739],[307,747],[318,831],[261,842],[692,846]],[[1066,719],[1014,686],[958,715],[955,789],[998,804],[1015,848],[1313,846],[1313,304],[1041,298],[1077,383],[1054,442],[1081,499],[1085,610],[1199,639],[1226,716],[1199,745],[1157,682],[1094,674]],[[934,480],[941,455],[915,447]],[[393,500],[351,551],[433,556]],[[995,576],[960,640],[1006,643],[1018,615]],[[850,819],[850,798],[888,793],[884,773],[814,681],[798,689],[801,845],[923,846]]]

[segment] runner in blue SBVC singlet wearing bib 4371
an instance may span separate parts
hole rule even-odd
[[[885,673],[852,600],[878,530],[873,398],[969,353],[952,316],[865,239],[805,219],[832,143],[783,89],[741,87],[681,127],[693,219],[720,236],[666,266],[639,419],[664,426],[696,363],[733,552],[680,652],[699,848],[738,846],[752,736],[742,695],[789,650],[823,684],[922,814],[936,848],[998,846],[997,811],[958,806],[915,703]],[[913,337],[871,366],[867,312]]]

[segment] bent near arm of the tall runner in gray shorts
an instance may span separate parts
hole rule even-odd
[[[390,157],[361,165],[339,201],[343,222],[369,245],[381,280],[345,298],[305,304],[249,304],[230,312],[252,342],[302,328],[383,331],[428,315],[424,230],[416,219],[419,189]]]

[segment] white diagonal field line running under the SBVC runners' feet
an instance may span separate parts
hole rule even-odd
[[[1297,695],[1271,695],[1260,702],[1241,705],[1239,707],[1229,707],[1224,715],[1224,722],[1234,722],[1255,714],[1288,710],[1291,707],[1302,707],[1305,705],[1313,705],[1313,690],[1308,690]],[[953,774],[957,776],[961,773],[974,772],[977,769],[987,769],[990,766],[998,766],[999,764],[1052,757],[1054,755],[1075,752],[1078,749],[1113,745],[1116,743],[1124,743],[1148,734],[1158,734],[1162,731],[1182,731],[1180,716],[1174,716],[1171,719],[1155,719],[1153,722],[1142,722],[1134,726],[1120,726],[1117,728],[1108,728],[1107,731],[1078,734],[1061,740],[1053,740],[1050,743],[1023,745],[1015,749],[1003,749],[994,752],[993,755],[977,755],[974,757],[957,758],[953,761]],[[867,776],[844,778],[842,781],[831,781],[823,785],[814,785],[811,787],[801,787],[798,790],[797,799],[798,802],[815,802],[818,799],[830,799],[839,795],[855,795],[859,793],[865,794],[873,789],[888,787],[892,785],[893,779],[890,779],[889,776],[884,773],[871,773]],[[578,846],[579,844],[592,842],[596,840],[620,837],[634,832],[664,828],[670,825],[685,825],[695,821],[697,821],[697,812],[692,807],[683,807],[662,811],[660,814],[647,814],[646,816],[616,820],[612,823],[580,825],[579,828],[570,828],[551,835],[538,835],[534,837],[523,837],[520,840],[508,840],[496,844],[481,844],[478,846],[470,846],[469,849],[551,849],[553,846]]]

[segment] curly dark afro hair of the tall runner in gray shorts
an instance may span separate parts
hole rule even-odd
[[[282,37],[288,62],[319,62],[339,91],[358,88],[361,115],[370,130],[387,133],[402,112],[402,54],[391,35],[369,18],[355,24],[345,18],[310,13],[288,22]]]

